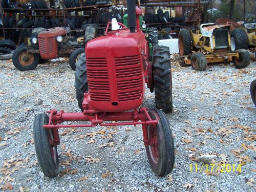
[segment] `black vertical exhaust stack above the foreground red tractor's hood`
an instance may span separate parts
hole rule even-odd
[[[135,0],[127,0],[128,27],[131,33],[135,33],[136,28],[136,4]]]

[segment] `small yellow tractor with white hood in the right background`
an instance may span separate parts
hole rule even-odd
[[[189,28],[179,32],[181,66],[191,65],[197,71],[206,70],[207,63],[218,62],[232,61],[237,68],[247,67],[250,63],[248,51],[231,48],[230,26],[227,24],[202,24],[196,33]]]

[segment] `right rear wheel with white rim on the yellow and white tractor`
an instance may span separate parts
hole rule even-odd
[[[236,51],[238,49],[248,48],[249,42],[247,34],[242,29],[234,29],[230,32],[231,37],[231,51]]]

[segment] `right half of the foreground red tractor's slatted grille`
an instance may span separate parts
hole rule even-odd
[[[140,99],[143,93],[140,55],[115,57],[118,101]]]

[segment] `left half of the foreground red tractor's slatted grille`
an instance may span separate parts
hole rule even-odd
[[[86,65],[91,100],[111,101],[106,58],[87,58]]]

